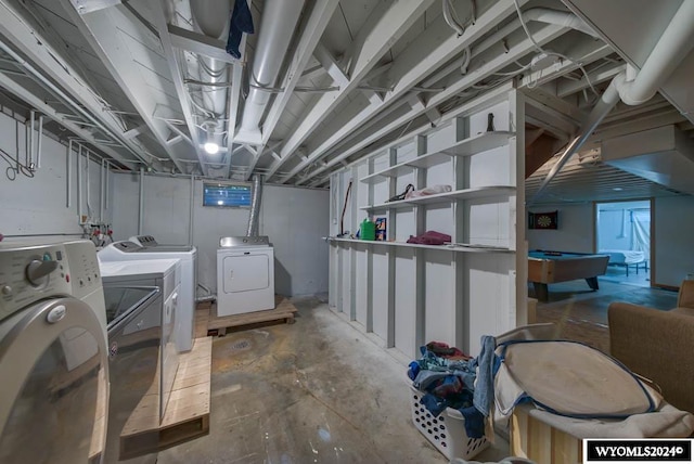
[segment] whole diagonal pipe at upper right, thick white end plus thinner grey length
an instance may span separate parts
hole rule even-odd
[[[694,18],[694,1],[682,2],[682,5],[672,16],[670,24],[660,36],[660,39],[658,39],[658,43],[653,48],[635,78],[627,81],[627,73],[625,72],[615,76],[605,93],[588,115],[588,119],[583,125],[583,132],[566,147],[540,184],[538,191],[528,202],[528,205],[540,197],[544,189],[552,182],[574,153],[583,146],[588,138],[612,108],[615,107],[620,98],[628,105],[638,105],[655,95],[663,82],[670,77],[684,56],[694,48],[694,21],[692,18]]]

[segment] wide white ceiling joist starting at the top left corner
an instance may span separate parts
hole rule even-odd
[[[125,128],[121,121],[104,107],[103,101],[95,91],[87,91],[90,86],[79,77],[79,73],[61,59],[61,54],[23,18],[22,14],[8,0],[0,0],[0,35],[28,60],[28,66],[50,81],[56,82],[62,89],[60,92],[64,90],[66,95],[79,105],[79,108],[74,111],[88,114],[101,123],[104,128],[102,131],[107,137],[118,141],[124,149],[136,158],[141,159],[144,165],[157,169],[160,167],[160,163],[156,159],[143,157],[141,146],[123,137]],[[26,65],[22,64],[21,67],[26,68]]]

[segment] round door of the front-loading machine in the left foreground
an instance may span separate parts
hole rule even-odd
[[[108,361],[97,314],[83,301],[54,298],[2,325],[0,462],[101,462]]]

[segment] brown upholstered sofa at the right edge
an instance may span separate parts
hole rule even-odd
[[[694,413],[694,281],[682,283],[669,311],[613,302],[607,319],[611,355],[653,381],[670,404]]]

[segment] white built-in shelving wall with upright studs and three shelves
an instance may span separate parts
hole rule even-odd
[[[406,357],[430,340],[474,356],[481,335],[526,322],[525,103],[512,86],[491,93],[331,177],[330,306]],[[451,191],[386,202],[410,183]],[[338,237],[368,216],[386,219],[385,241]],[[406,243],[429,230],[452,244]]]

